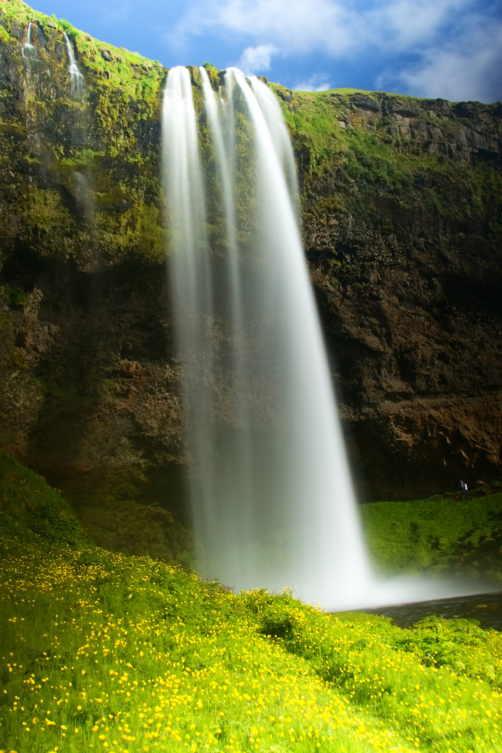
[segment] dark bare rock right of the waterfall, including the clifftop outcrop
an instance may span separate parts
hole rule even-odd
[[[412,154],[427,128],[421,149],[446,155],[458,171],[454,181],[415,174],[398,192],[369,186],[361,173],[347,185],[340,170],[304,180],[306,252],[356,475],[370,498],[500,476],[500,194],[482,190],[488,176],[500,181],[498,108],[421,102],[437,114],[433,129],[399,98],[380,99],[378,113],[366,95],[351,99],[363,108],[352,117],[375,129],[383,120],[401,154]],[[472,127],[455,122],[467,114]],[[476,175],[473,163],[477,195],[464,183]],[[344,212],[323,206],[340,183],[351,196]],[[433,191],[435,203],[427,200]],[[442,191],[454,192],[449,209],[438,209]],[[463,208],[465,191],[477,210]]]

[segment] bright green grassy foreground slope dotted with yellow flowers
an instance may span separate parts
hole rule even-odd
[[[0,750],[500,751],[502,636],[94,547],[0,454]]]

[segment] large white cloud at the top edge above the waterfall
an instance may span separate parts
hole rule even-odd
[[[240,35],[253,46],[288,53],[324,51],[339,57],[367,47],[410,47],[432,41],[455,14],[476,0],[374,0],[357,8],[349,0],[192,0],[170,38],[177,41],[218,31]]]

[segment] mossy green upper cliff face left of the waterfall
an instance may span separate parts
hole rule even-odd
[[[161,261],[166,71],[17,0],[1,8],[4,258],[21,247],[82,269],[127,256]],[[82,96],[71,93],[63,32],[84,75]]]

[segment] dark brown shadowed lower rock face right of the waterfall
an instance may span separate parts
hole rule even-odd
[[[368,248],[360,233],[345,246],[352,265]],[[371,242],[385,252],[382,238]],[[480,270],[481,243],[418,222],[393,245],[392,258],[372,255],[362,288],[333,279],[309,249],[357,471],[385,498],[497,477],[500,267]]]

